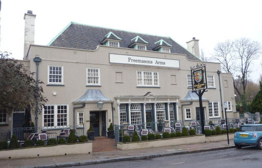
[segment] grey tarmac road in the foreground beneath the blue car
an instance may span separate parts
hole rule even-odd
[[[130,167],[150,167],[150,168],[164,168],[164,167],[262,167],[262,150],[256,147],[245,147],[242,149],[226,149],[219,151],[200,152],[184,155],[174,155],[166,157],[158,157],[149,160],[135,160],[135,161],[120,161],[112,163],[102,163],[93,165],[74,166],[77,168],[130,168]]]

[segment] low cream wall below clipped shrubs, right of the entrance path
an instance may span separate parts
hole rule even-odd
[[[127,143],[118,142],[117,148],[120,150],[132,150],[132,149],[166,147],[166,146],[202,143],[202,142],[205,142],[205,135],[184,136],[184,137],[176,137],[176,138],[145,140],[145,141],[127,142]]]

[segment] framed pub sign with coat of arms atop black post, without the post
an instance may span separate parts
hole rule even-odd
[[[191,68],[192,89],[200,90],[206,88],[206,66],[204,64]]]

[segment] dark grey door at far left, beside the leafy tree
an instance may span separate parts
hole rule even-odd
[[[18,140],[24,140],[23,123],[25,119],[25,113],[13,113],[13,135],[16,135]]]

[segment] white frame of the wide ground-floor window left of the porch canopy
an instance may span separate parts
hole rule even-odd
[[[44,128],[67,128],[69,126],[69,104],[47,104],[45,106],[54,106],[54,126],[45,126],[45,108],[42,107],[42,127]],[[66,126],[57,126],[57,106],[67,106],[67,125]]]

